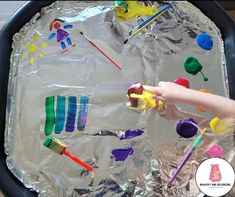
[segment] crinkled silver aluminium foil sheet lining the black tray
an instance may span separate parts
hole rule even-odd
[[[160,8],[167,3],[145,1],[143,4]],[[234,165],[234,138],[206,136],[173,187],[166,190],[169,175],[192,139],[177,136],[176,120],[129,109],[126,92],[133,82],[156,85],[181,76],[190,80],[193,89],[206,88],[227,96],[220,30],[192,4],[179,1],[124,45],[128,32],[146,17],[120,21],[113,7],[112,1],[55,2],[14,35],[5,131],[7,165],[39,196],[200,195],[194,176],[197,166],[206,158],[207,145],[219,141],[225,147],[225,158]],[[63,53],[55,39],[47,39],[51,34],[50,22],[55,18],[64,20],[63,25],[73,25],[67,32],[75,46]],[[79,31],[106,51],[122,70],[104,58]],[[205,52],[197,46],[195,38],[200,32],[212,36],[211,51]],[[199,74],[192,76],[184,71],[186,56],[200,59],[208,82]],[[45,98],[53,95],[89,97],[85,130],[53,132],[52,136],[62,139],[70,152],[92,165],[94,173],[43,146]],[[204,123],[211,118],[188,106],[180,107],[203,116]],[[142,129],[144,133],[120,140],[117,133],[128,129]],[[132,147],[134,153],[124,162],[111,158],[113,149],[123,147]]]

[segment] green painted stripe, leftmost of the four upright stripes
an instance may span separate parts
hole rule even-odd
[[[44,133],[46,136],[50,135],[53,131],[55,124],[55,97],[48,96],[45,101],[45,111],[46,111],[46,122],[44,127]]]

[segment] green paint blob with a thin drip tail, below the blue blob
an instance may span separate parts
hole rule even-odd
[[[202,73],[202,65],[199,63],[199,61],[194,57],[187,57],[184,60],[184,69],[187,73],[190,73],[192,75],[196,75],[198,72],[200,72],[203,76],[204,81],[208,81],[208,78]]]

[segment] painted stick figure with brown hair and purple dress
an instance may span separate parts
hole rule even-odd
[[[66,44],[65,42],[67,42],[67,44],[69,46],[75,46],[75,44],[72,43],[70,37],[69,37],[69,33],[63,29],[72,29],[73,25],[64,25],[63,29],[61,29],[61,24],[60,23],[64,23],[64,20],[61,19],[54,19],[53,21],[51,21],[50,23],[50,31],[52,31],[52,29],[56,29],[56,33],[52,33],[49,37],[48,40],[52,40],[55,36],[56,36],[56,40],[57,42],[60,43],[61,48],[62,49],[66,49]]]

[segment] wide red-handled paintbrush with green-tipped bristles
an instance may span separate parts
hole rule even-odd
[[[48,137],[44,141],[43,145],[46,146],[47,148],[51,149],[52,151],[54,151],[57,154],[60,154],[60,155],[64,154],[67,157],[70,157],[73,161],[78,163],[80,166],[86,168],[87,170],[89,170],[91,172],[94,171],[92,166],[90,166],[89,164],[85,163],[84,161],[82,161],[81,159],[79,159],[75,155],[71,154],[69,151],[67,151],[66,150],[67,146],[61,140],[59,140],[55,137]]]

